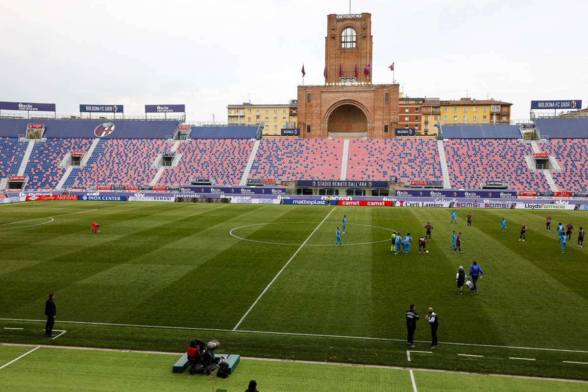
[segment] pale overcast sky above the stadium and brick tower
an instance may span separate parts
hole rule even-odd
[[[373,81],[405,95],[588,104],[588,1],[352,1],[372,14]],[[6,1],[0,6],[0,100],[185,103],[189,120],[226,121],[226,105],[288,103],[323,83],[326,16],[346,0]]]

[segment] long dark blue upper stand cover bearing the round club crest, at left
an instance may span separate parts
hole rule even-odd
[[[16,137],[24,135],[26,125],[43,124],[45,138],[96,138],[94,130],[101,124],[114,124],[114,129],[103,139],[164,139],[173,135],[178,128],[176,120],[55,120],[55,119],[2,119],[0,118],[0,136]]]

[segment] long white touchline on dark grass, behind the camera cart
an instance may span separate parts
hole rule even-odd
[[[34,319],[4,319],[3,321],[34,321],[38,323],[46,323],[47,320],[34,320]],[[197,328],[197,327],[169,327],[169,326],[148,326],[141,324],[116,324],[116,323],[95,323],[92,321],[63,321],[59,320],[56,323],[66,324],[87,324],[96,326],[111,326],[111,327],[135,327],[135,328],[153,328],[153,329],[178,329],[178,330],[189,330],[189,331],[212,331],[212,332],[235,332],[235,333],[259,333],[269,335],[284,335],[284,336],[312,336],[312,337],[334,337],[340,339],[357,339],[357,340],[378,340],[378,341],[403,341],[405,339],[392,339],[388,337],[365,337],[365,336],[346,336],[346,335],[326,335],[326,334],[315,334],[315,333],[295,333],[295,332],[273,332],[273,331],[250,331],[250,330],[231,330],[231,329],[218,329],[218,328]],[[430,340],[415,340],[416,343],[427,343],[430,344]],[[566,350],[566,349],[544,349],[543,347],[519,347],[519,346],[498,346],[496,344],[477,344],[477,343],[453,343],[450,341],[442,341],[442,344],[451,344],[452,346],[473,346],[473,347],[490,347],[495,349],[519,349],[519,350],[541,350],[541,351],[559,351],[563,353],[580,353],[588,354],[588,351],[583,350]],[[428,353],[429,351],[425,351]]]

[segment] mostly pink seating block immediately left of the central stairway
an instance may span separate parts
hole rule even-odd
[[[339,180],[343,140],[262,139],[249,178]]]

